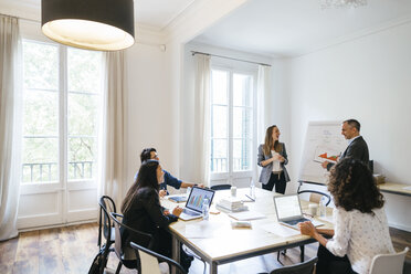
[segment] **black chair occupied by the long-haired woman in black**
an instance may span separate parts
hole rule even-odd
[[[152,235],[131,229],[130,226],[124,224],[122,214],[112,212],[109,213],[109,217],[110,217],[110,220],[114,222],[114,229],[115,229],[115,235],[116,235],[115,243],[114,243],[114,251],[119,260],[116,274],[120,272],[123,265],[126,266],[127,268],[138,270],[140,265],[139,257],[138,256],[136,257],[135,255],[136,253],[133,252],[130,246],[123,246],[122,233],[119,229],[123,226],[123,229],[128,230],[129,233],[133,233],[136,236],[138,235],[141,239],[147,239],[146,242],[148,243],[147,244],[148,249],[151,247]],[[122,221],[119,221],[118,219],[120,219]]]

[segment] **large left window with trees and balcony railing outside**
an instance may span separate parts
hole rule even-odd
[[[23,40],[22,182],[96,176],[102,53]]]

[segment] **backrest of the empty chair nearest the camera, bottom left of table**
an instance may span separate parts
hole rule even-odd
[[[143,247],[134,242],[130,243],[131,247],[136,251],[136,255],[140,257],[139,274],[161,274],[158,261],[166,262],[169,266],[176,266],[180,273],[187,274],[185,268],[176,261],[166,257],[157,252]]]

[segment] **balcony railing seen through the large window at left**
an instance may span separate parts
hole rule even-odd
[[[89,179],[93,178],[94,161],[70,161],[68,179]],[[52,181],[57,180],[57,162],[36,162],[22,165],[23,181]]]

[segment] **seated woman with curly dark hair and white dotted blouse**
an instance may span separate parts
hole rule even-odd
[[[336,204],[335,229],[316,229],[304,222],[298,224],[299,230],[320,243],[316,273],[368,274],[375,255],[394,253],[383,197],[372,173],[359,160],[342,159],[330,172],[328,190]]]

